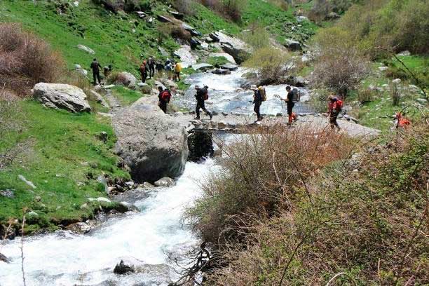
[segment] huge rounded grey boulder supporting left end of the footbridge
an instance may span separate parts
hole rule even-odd
[[[147,99],[137,100],[113,117],[116,153],[136,182],[177,177],[188,157],[187,133],[175,118]]]

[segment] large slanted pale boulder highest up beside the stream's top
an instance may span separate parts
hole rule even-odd
[[[214,41],[218,41],[224,51],[231,55],[238,64],[247,60],[252,53],[252,48],[240,39],[227,36],[222,32],[214,32],[210,36]]]

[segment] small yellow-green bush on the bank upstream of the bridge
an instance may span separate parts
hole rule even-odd
[[[267,47],[257,50],[244,64],[257,69],[261,83],[282,83],[292,67],[292,60],[282,50]]]

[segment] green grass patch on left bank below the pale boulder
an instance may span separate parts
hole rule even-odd
[[[97,176],[130,178],[116,167],[118,157],[112,152],[116,139],[109,121],[94,114],[47,109],[32,100],[19,105],[18,114],[24,114],[22,131],[0,138],[0,151],[22,140],[30,140],[32,149],[24,161],[0,172],[0,189],[15,192],[15,198],[0,197],[0,223],[19,219],[24,207],[39,214],[29,220],[29,231],[55,229],[62,222],[92,217],[99,203],[89,203],[88,198],[107,196]],[[97,139],[102,131],[108,135],[106,144]],[[36,189],[27,186],[18,175],[33,182]],[[81,210],[83,203],[88,203],[88,209]]]

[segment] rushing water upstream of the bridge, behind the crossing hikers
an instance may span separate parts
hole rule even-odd
[[[192,74],[186,81],[191,84],[189,90],[186,90],[184,97],[179,98],[178,103],[182,107],[195,109],[195,86],[208,86],[210,98],[206,102],[207,109],[224,111],[235,114],[253,113],[253,91],[243,90],[241,86],[246,80],[243,78],[246,69],[240,67],[231,74],[217,75],[212,73]],[[285,102],[280,101],[275,95],[286,97],[286,86],[266,86],[267,100],[261,105],[261,114],[277,115],[286,114]],[[308,91],[305,88],[298,88],[301,92],[301,102],[295,105],[294,112],[311,112],[304,102],[308,100]]]

